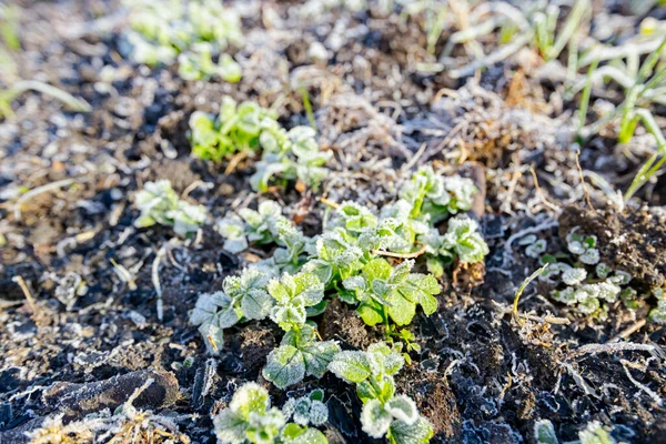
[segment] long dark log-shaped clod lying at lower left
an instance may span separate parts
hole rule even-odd
[[[178,380],[172,373],[142,370],[88,384],[56,383],[42,395],[46,405],[75,418],[110,408],[112,412],[152,379],[132,403],[137,408],[155,410],[174,404],[179,398]]]

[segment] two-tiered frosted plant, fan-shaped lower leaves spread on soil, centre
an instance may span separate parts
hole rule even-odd
[[[280,389],[296,384],[306,375],[322,377],[340,352],[335,341],[319,341],[315,327],[306,323],[307,309],[316,307],[324,297],[324,285],[311,273],[284,273],[280,280],[271,280],[269,293],[275,300],[271,320],[286,333],[280,346],[269,354],[263,376]]]

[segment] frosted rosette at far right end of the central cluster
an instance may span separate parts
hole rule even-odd
[[[446,234],[440,234],[436,229],[431,229],[426,234],[421,235],[418,241],[426,246],[427,268],[435,276],[442,276],[444,268],[454,260],[480,262],[490,252],[488,245],[478,232],[478,223],[466,215],[450,219]]]

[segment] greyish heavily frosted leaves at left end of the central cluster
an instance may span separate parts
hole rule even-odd
[[[199,325],[210,353],[218,353],[224,344],[223,330],[241,321],[265,319],[273,307],[266,286],[274,271],[271,268],[251,266],[239,276],[228,276],[223,292],[199,295],[190,323]]]

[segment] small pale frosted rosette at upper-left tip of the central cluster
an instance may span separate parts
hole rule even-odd
[[[278,222],[286,221],[282,208],[274,201],[263,201],[256,210],[244,208],[218,222],[218,231],[225,238],[224,250],[239,253],[250,243],[266,244],[279,238]],[[286,221],[289,223],[289,221]]]

